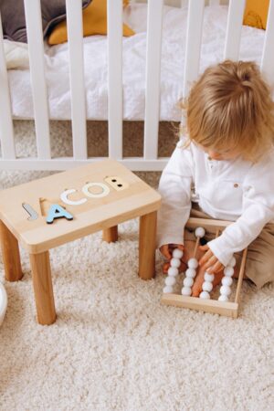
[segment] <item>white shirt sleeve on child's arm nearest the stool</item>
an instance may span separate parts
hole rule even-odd
[[[175,148],[159,183],[162,205],[157,218],[157,247],[184,244],[184,225],[191,209],[192,153]]]

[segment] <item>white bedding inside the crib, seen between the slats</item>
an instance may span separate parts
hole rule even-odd
[[[123,118],[143,120],[145,91],[147,5],[129,5],[124,22],[135,36],[123,38]],[[223,59],[227,27],[227,6],[205,7],[203,46],[200,71]],[[176,102],[182,96],[186,9],[164,6],[161,71],[162,121],[179,121]],[[260,62],[265,31],[243,26],[240,59]],[[104,36],[84,38],[87,118],[107,120],[108,69],[107,40]],[[46,47],[45,66],[51,119],[70,118],[68,79],[68,45]],[[9,70],[13,113],[16,117],[33,118],[29,71]]]

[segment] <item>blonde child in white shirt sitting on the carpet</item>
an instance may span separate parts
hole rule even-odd
[[[181,270],[192,257],[189,216],[230,220],[219,237],[199,247],[192,295],[205,270],[223,277],[234,253],[248,247],[246,276],[258,287],[274,280],[274,103],[253,62],[226,60],[206,68],[186,102],[186,126],[163,170],[157,243],[170,260],[184,249]],[[185,130],[184,130],[185,129]],[[166,272],[169,263],[163,265]],[[237,269],[236,275],[237,275]]]

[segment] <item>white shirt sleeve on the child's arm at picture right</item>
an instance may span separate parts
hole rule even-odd
[[[242,251],[258,237],[262,228],[274,218],[274,158],[255,164],[243,183],[243,212],[220,237],[208,247],[227,266],[237,251]]]

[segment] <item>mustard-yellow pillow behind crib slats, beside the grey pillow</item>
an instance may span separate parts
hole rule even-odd
[[[129,0],[123,0],[123,5],[128,5]],[[83,33],[85,36],[107,34],[107,0],[92,0],[90,5],[83,10]],[[133,36],[134,31],[122,25],[122,35]],[[68,41],[66,20],[54,27],[48,37],[48,44],[60,44]]]

